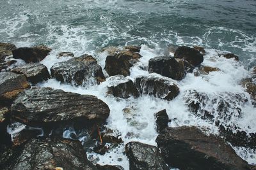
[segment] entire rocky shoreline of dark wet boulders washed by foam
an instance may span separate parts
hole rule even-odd
[[[186,74],[198,76],[221,71],[218,67],[202,66],[205,50],[200,46],[171,46],[168,50],[173,57],[148,60],[150,76],[131,80],[130,68],[143,57],[140,46],[103,48],[102,52],[108,53],[104,67],[106,75],[92,55],[74,57],[72,53],[62,52],[59,57],[72,58],[54,64],[49,73],[47,67],[39,62],[49,55],[51,48],[16,48],[10,43],[0,43],[0,169],[123,169],[120,166],[95,165],[86,157],[88,150],[104,155],[124,143],[111,134],[111,129],[104,127],[110,112],[106,103],[91,95],[36,87],[36,83],[49,78],[74,86],[99,85],[108,81],[106,95],[116,99],[148,95],[172,101],[180,92],[175,82]],[[232,53],[220,57],[239,60]],[[16,59],[22,59],[26,64],[13,66]],[[248,101],[256,106],[255,78],[256,69],[252,71],[251,78],[241,81],[250,97],[228,94],[239,102],[225,98],[215,100],[218,110],[205,109],[214,97],[196,90],[186,92],[188,95],[184,100],[191,114],[212,121],[220,136],[207,136],[197,127],[168,127],[171,120],[166,111],[156,113],[157,147],[139,142],[125,144],[130,169],[255,169],[238,157],[227,143],[255,149],[256,132],[248,134],[236,125],[228,127],[225,122],[212,119],[215,113],[225,121],[232,114],[239,116],[241,107]],[[231,115],[227,115],[227,110],[232,110]],[[6,130],[13,122],[24,124],[24,129],[16,136],[10,136]],[[63,129],[67,126],[74,127],[77,134],[87,136],[85,144],[77,140],[76,134],[72,139],[64,139]],[[233,129],[237,130],[236,133]]]

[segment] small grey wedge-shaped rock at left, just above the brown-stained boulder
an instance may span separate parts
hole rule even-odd
[[[24,74],[28,81],[34,84],[51,78],[47,67],[40,63],[29,63],[18,66],[11,71],[17,74]]]

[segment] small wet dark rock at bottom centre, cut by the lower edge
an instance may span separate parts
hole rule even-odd
[[[169,169],[156,146],[139,142],[125,145],[125,153],[132,169]]]

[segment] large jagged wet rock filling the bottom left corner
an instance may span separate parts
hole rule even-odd
[[[1,162],[2,169],[97,169],[81,143],[70,139],[32,139],[10,155]]]

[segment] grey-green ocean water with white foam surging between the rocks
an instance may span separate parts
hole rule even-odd
[[[180,94],[173,101],[163,101],[150,96],[138,99],[115,99],[106,95],[106,82],[100,85],[74,87],[54,79],[40,83],[41,87],[52,87],[79,94],[92,94],[108,104],[111,113],[107,127],[113,129],[124,140],[141,141],[156,145],[154,113],[166,109],[173,121],[172,127],[196,125],[207,133],[218,134],[218,128],[207,120],[191,114],[186,106],[188,90],[205,93],[211,99],[232,99],[229,94],[241,94],[249,101],[237,102],[241,115],[231,115],[224,120],[214,115],[225,125],[236,125],[246,132],[256,132],[256,109],[250,96],[244,92],[240,82],[250,77],[250,69],[256,66],[256,1],[255,0],[4,0],[0,1],[0,42],[21,46],[47,45],[53,50],[42,60],[51,66],[65,59],[57,59],[59,52],[73,52],[77,57],[84,53],[93,55],[102,66],[107,53],[105,46],[141,45],[143,56],[131,68],[129,78],[148,75],[141,67],[147,67],[152,57],[164,55],[170,45],[204,46],[205,66],[218,67],[221,71],[207,75],[187,74],[181,81],[174,81]],[[239,62],[218,57],[218,53],[232,52]],[[105,73],[106,74],[106,73]],[[106,76],[108,76],[106,74]],[[153,76],[160,76],[153,74]],[[160,76],[161,77],[161,76]],[[134,108],[132,122],[123,109]],[[207,110],[214,110],[209,102]],[[68,131],[65,135],[68,138]],[[83,138],[81,138],[83,141]],[[250,164],[256,164],[256,151],[233,147],[237,155]],[[99,164],[117,164],[129,169],[124,145],[106,155],[88,153],[88,157]]]

